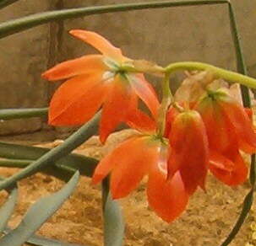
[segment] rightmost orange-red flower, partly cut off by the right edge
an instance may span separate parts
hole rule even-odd
[[[229,185],[247,179],[239,149],[256,152],[256,134],[242,105],[224,90],[210,92],[195,106],[204,120],[210,146],[210,171]]]

